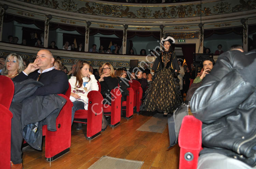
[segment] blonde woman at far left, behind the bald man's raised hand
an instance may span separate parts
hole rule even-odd
[[[16,53],[11,53],[5,59],[5,67],[2,71],[2,75],[5,75],[11,79],[18,76],[20,72],[24,70],[24,64],[22,57]]]

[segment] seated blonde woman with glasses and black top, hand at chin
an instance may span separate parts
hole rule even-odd
[[[111,90],[118,87],[118,79],[114,74],[114,68],[110,63],[102,65],[103,74],[100,76],[101,94],[104,98],[103,105],[111,105]]]

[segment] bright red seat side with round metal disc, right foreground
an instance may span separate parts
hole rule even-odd
[[[196,169],[202,150],[202,122],[194,116],[183,118],[179,132],[180,169]]]

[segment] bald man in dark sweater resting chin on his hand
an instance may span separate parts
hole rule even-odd
[[[69,85],[67,75],[60,70],[54,69],[54,57],[48,50],[40,50],[37,58],[13,81],[20,82],[26,79],[40,81],[44,86],[38,87],[34,96],[47,96],[50,94],[65,94]],[[12,103],[13,104],[13,103]],[[12,107],[12,105],[11,105]],[[10,107],[10,110],[11,110]],[[21,112],[13,113],[11,130],[11,168],[23,168],[22,165],[22,140],[20,132]]]

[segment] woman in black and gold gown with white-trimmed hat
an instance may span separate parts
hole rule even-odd
[[[161,43],[165,50],[154,62],[152,70],[155,71],[155,78],[143,102],[142,110],[158,111],[167,116],[182,104],[179,81],[174,78],[180,67],[176,54],[171,48],[171,43],[175,43],[175,40],[168,36],[165,39],[162,38]]]

